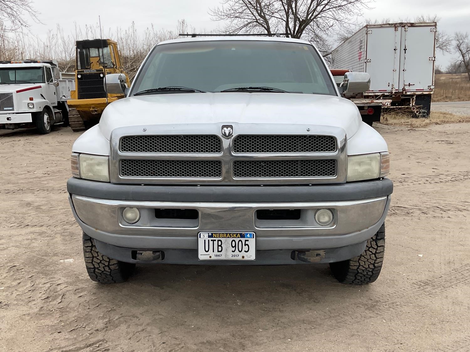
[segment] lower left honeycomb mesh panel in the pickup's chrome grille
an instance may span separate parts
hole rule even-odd
[[[220,178],[219,160],[128,160],[120,161],[124,177]]]

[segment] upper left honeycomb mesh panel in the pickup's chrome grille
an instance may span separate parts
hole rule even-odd
[[[120,150],[127,153],[221,153],[222,142],[211,135],[127,136],[121,139]]]

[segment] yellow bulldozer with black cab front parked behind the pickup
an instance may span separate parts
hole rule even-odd
[[[86,130],[100,121],[104,108],[124,98],[124,94],[108,94],[104,77],[122,73],[130,86],[129,77],[122,68],[118,45],[111,39],[78,40],[75,67],[75,91],[67,101],[70,127],[74,131]]]

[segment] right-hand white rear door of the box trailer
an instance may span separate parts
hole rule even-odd
[[[401,28],[400,87],[403,92],[429,92],[434,85],[434,26]],[[431,31],[432,30],[432,31]]]

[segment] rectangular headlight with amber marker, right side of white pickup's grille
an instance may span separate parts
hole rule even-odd
[[[389,174],[389,171],[389,153],[352,155],[348,157],[348,182],[385,177]]]

